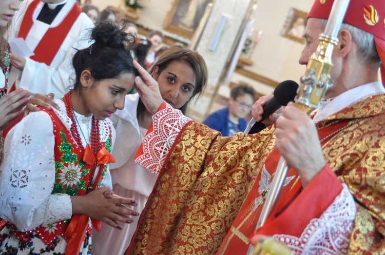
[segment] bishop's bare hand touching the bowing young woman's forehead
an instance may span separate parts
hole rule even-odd
[[[135,78],[135,88],[138,91],[144,106],[151,114],[157,112],[163,103],[157,81],[138,62],[133,61],[133,66],[138,70],[139,76]]]

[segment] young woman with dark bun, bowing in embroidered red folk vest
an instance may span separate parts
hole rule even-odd
[[[121,229],[138,215],[132,199],[111,194],[108,163],[115,132],[109,117],[133,88],[127,34],[97,25],[78,50],[73,90],[59,109],[30,113],[7,135],[0,168],[0,253],[90,254],[92,227]]]

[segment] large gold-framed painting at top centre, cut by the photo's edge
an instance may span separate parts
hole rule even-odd
[[[191,38],[205,9],[213,0],[175,0],[167,13],[163,28],[172,33]]]

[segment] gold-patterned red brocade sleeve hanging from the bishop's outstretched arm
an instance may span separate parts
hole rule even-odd
[[[215,253],[262,168],[260,159],[273,149],[273,131],[221,137],[205,125],[188,124],[150,195],[129,254]]]

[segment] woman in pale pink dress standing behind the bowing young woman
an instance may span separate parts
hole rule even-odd
[[[138,63],[134,65],[140,68]],[[165,50],[153,65],[150,74],[158,82],[163,100],[183,113],[191,99],[202,92],[207,82],[207,67],[202,56],[181,46]],[[41,94],[37,94],[31,101],[47,107],[49,104],[55,106]],[[152,121],[152,115],[144,106],[144,101],[152,102],[152,98],[142,99],[138,93],[127,95],[124,109],[111,116],[117,137],[122,138],[117,139],[113,146],[112,154],[116,160],[116,163],[110,164],[113,191],[122,197],[134,199],[138,203],[136,211],[139,213],[144,209],[159,174],[134,162],[134,156]],[[32,104],[27,106],[31,111],[36,110]],[[127,135],[130,139],[123,139]],[[123,230],[102,223],[102,230],[95,232],[93,236],[92,254],[123,254],[138,222],[139,218],[133,219],[132,224],[123,225]]]

